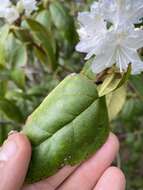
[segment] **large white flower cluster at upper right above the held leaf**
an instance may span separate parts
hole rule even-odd
[[[143,0],[99,0],[90,12],[78,15],[79,52],[93,55],[92,70],[100,73],[114,64],[126,72],[131,64],[132,74],[143,71],[138,49],[143,47],[143,30],[135,27],[143,19]]]

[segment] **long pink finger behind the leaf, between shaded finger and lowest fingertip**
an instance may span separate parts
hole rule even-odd
[[[117,137],[110,134],[103,147],[83,163],[59,188],[59,190],[89,190],[94,187],[102,173],[114,160],[119,149]]]

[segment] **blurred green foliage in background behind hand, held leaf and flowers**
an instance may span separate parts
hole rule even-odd
[[[30,19],[22,17],[12,26],[0,21],[0,144],[10,130],[23,127],[27,116],[66,75],[79,72],[84,63],[83,55],[75,51],[74,18],[93,0],[43,2]],[[120,101],[120,93],[116,101],[110,97],[110,104]],[[127,189],[142,190],[142,74],[130,77],[122,104],[111,123],[121,142],[117,164],[126,174]]]

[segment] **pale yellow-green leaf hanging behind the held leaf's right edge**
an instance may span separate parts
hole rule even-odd
[[[126,87],[121,86],[106,96],[108,114],[110,120],[117,117],[126,101]]]

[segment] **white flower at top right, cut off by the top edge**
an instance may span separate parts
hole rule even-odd
[[[140,22],[143,16],[143,0],[99,0],[104,18],[117,28]]]

